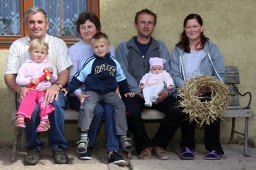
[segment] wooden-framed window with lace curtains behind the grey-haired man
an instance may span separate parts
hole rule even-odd
[[[99,0],[0,0],[0,49],[9,49],[15,39],[29,32],[23,24],[29,7],[39,6],[48,14],[48,34],[59,36],[67,45],[80,39],[75,21],[82,11],[94,12],[99,17]]]

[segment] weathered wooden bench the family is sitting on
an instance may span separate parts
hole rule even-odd
[[[236,66],[226,66],[226,80],[230,86],[230,102],[227,110],[222,114],[222,117],[232,118],[232,127],[230,135],[230,143],[233,142],[234,133],[241,134],[244,136],[244,156],[250,156],[248,150],[248,129],[249,129],[249,117],[254,117],[252,109],[249,109],[249,104],[246,108],[240,107],[239,105],[239,93],[238,84],[240,83],[238,68]],[[251,97],[251,96],[250,96]],[[251,98],[250,98],[251,100]],[[155,109],[145,109],[142,112],[143,120],[162,120],[165,115]],[[236,131],[236,117],[245,117],[244,132]],[[15,112],[12,113],[12,121],[15,120]],[[78,120],[78,112],[74,110],[67,109],[65,112],[65,121]],[[76,121],[74,121],[76,123]],[[12,143],[12,159],[11,161],[16,161],[16,150],[20,149],[20,141],[22,135],[22,128],[15,127],[15,134]],[[128,158],[132,158],[132,152],[128,152]]]

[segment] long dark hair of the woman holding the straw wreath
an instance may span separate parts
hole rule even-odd
[[[197,20],[197,22],[200,24],[200,26],[203,26],[203,19],[200,17],[200,15],[189,14],[184,19],[183,27],[185,28],[187,26],[187,21],[192,20],[192,19]],[[203,49],[207,40],[208,40],[208,38],[203,35],[203,31],[202,31],[201,35],[200,35],[200,42],[197,43],[197,45],[200,45],[200,47],[198,48],[199,50]],[[196,47],[197,47],[197,45],[196,45]],[[180,47],[182,50],[184,50],[185,53],[190,53],[189,39],[187,38],[185,30],[181,33],[181,39],[176,46]]]

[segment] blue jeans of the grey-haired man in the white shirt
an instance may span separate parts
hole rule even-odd
[[[64,138],[64,108],[66,100],[66,96],[61,92],[59,93],[58,101],[53,101],[51,103],[55,108],[53,113],[49,115],[50,129],[48,130],[48,144],[52,150],[57,150],[58,147],[67,149],[67,140]],[[37,126],[39,125],[39,122],[39,107],[36,104],[31,120],[25,121],[26,148],[29,150],[33,148],[42,150],[45,145],[38,139],[39,133],[37,132]]]

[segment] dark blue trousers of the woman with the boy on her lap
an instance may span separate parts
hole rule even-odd
[[[69,104],[72,109],[79,111],[80,101],[78,98],[70,96]],[[119,138],[116,135],[114,109],[110,106],[110,104],[97,104],[94,109],[94,117],[91,121],[91,125],[88,131],[89,147],[94,147],[103,117],[105,117],[105,138],[107,140],[107,152],[118,152]]]

